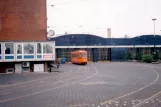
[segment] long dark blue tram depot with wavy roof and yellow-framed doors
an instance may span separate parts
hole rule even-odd
[[[70,53],[73,50],[87,50],[88,60],[120,61],[121,56],[130,51],[134,54],[146,54],[156,52],[161,55],[160,35],[141,35],[134,38],[103,38],[89,34],[68,34],[50,41],[56,41],[56,57],[66,58],[70,62]]]

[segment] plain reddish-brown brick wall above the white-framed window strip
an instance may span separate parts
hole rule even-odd
[[[0,0],[0,41],[47,39],[46,0]]]

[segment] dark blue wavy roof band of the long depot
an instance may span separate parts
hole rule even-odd
[[[134,38],[103,38],[90,34],[68,34],[50,39],[56,46],[161,45],[161,36],[140,35]]]

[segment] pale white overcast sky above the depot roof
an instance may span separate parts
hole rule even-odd
[[[55,5],[52,7],[51,5]],[[107,37],[161,34],[161,0],[47,0],[48,30]]]

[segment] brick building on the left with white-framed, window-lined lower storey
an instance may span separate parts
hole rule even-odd
[[[46,0],[0,0],[0,73],[44,72],[54,60]]]

